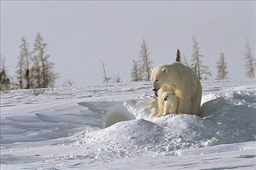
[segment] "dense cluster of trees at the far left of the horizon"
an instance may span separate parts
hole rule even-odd
[[[22,37],[18,64],[16,66],[16,81],[11,81],[1,61],[0,69],[0,90],[47,88],[55,85],[58,74],[54,72],[55,64],[49,61],[49,54],[46,54],[47,44],[40,33],[37,33],[33,50],[29,49],[27,40]],[[1,58],[2,59],[2,58]]]

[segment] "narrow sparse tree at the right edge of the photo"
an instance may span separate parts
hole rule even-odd
[[[246,77],[247,78],[255,78],[255,67],[256,60],[252,55],[252,49],[250,48],[249,41],[246,42],[246,50],[244,52],[245,59],[245,69],[246,69]]]

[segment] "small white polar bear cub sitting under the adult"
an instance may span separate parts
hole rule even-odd
[[[165,101],[163,116],[168,114],[177,113],[178,98],[171,91],[165,91],[162,94],[163,100]]]

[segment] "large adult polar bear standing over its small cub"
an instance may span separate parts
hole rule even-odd
[[[151,81],[156,96],[162,96],[165,91],[172,91],[178,97],[177,114],[200,116],[202,87],[191,68],[180,62],[163,64],[152,69]],[[163,114],[164,105],[163,98],[159,97],[157,117]]]

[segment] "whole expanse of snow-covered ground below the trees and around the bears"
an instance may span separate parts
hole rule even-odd
[[[155,118],[150,82],[1,93],[0,168],[256,169],[256,81],[202,87],[201,117]]]

